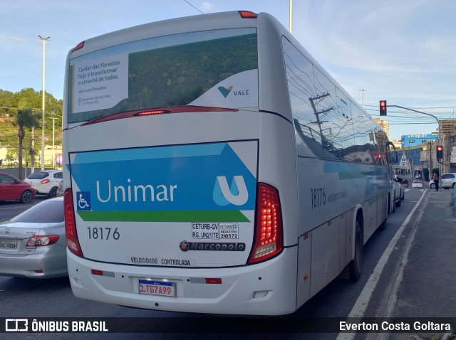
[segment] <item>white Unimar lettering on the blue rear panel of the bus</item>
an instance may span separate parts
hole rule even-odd
[[[101,203],[114,202],[154,202],[174,201],[176,184],[136,184],[130,185],[131,179],[127,179],[127,185],[113,185],[107,182],[96,181],[97,198]]]

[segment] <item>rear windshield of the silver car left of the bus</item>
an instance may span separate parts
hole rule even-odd
[[[32,206],[24,213],[11,218],[11,222],[58,223],[63,222],[63,199],[51,199]]]

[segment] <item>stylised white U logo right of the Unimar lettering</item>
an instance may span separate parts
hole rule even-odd
[[[228,186],[226,176],[217,176],[214,185],[214,202],[219,206],[243,206],[249,200],[249,192],[243,176],[234,176],[231,186]]]

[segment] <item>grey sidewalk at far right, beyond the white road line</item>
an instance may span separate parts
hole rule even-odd
[[[456,319],[455,190],[427,190],[393,316]],[[438,331],[391,334],[390,340],[452,339],[449,336]]]

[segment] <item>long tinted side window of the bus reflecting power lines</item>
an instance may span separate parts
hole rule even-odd
[[[388,139],[373,119],[284,39],[296,132],[318,157],[385,164]]]

